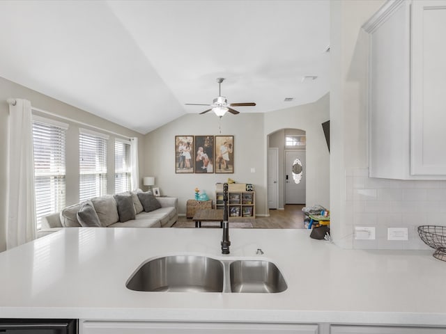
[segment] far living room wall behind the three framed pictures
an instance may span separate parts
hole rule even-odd
[[[175,173],[175,136],[233,135],[233,174]],[[263,115],[260,113],[226,114],[221,120],[214,113],[187,114],[146,135],[144,175],[155,176],[162,195],[178,197],[179,213],[185,214],[186,202],[194,198],[194,189],[206,191],[215,200],[215,183],[228,177],[240,183],[254,184],[256,214],[266,214],[266,169]],[[255,173],[251,173],[255,168]],[[259,205],[260,203],[260,205]]]

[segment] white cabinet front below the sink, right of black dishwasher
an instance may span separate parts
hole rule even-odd
[[[317,324],[79,321],[79,334],[318,334]]]

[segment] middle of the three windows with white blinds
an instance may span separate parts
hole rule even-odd
[[[79,201],[107,193],[108,136],[79,129]]]

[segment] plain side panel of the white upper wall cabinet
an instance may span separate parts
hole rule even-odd
[[[370,177],[410,173],[410,1],[388,4],[364,29],[370,33]]]

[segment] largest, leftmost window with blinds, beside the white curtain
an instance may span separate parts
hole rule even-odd
[[[36,221],[65,207],[65,145],[68,125],[33,117],[34,191]]]

